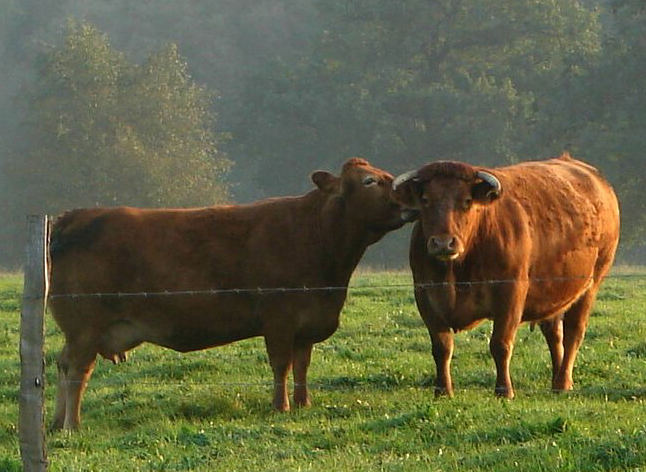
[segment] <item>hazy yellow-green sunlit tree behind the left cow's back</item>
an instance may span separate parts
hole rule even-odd
[[[70,21],[27,100],[30,142],[6,167],[18,215],[228,198],[230,161],[219,152],[226,136],[213,131],[210,94],[174,45],[133,65],[94,26]]]

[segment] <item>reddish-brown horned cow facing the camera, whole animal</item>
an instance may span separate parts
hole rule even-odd
[[[434,162],[393,183],[421,210],[411,237],[415,300],[428,328],[436,395],[453,394],[453,334],[493,320],[496,393],[512,398],[518,326],[540,322],[552,388],[572,388],[590,309],[619,240],[619,207],[599,172],[568,154],[485,169]],[[560,315],[562,315],[562,318]]]

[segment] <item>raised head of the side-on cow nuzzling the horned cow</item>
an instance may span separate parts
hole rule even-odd
[[[327,171],[316,171],[312,181],[337,204],[343,205],[347,217],[379,237],[414,220],[418,214],[394,198],[393,176],[362,158],[348,159],[338,177]]]

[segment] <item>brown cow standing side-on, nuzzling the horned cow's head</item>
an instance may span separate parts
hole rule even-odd
[[[97,354],[117,363],[143,342],[186,352],[264,336],[273,406],[289,410],[292,366],[294,403],[309,405],[312,345],[337,329],[353,270],[415,216],[392,199],[392,176],[363,159],[312,181],[303,196],[248,205],[64,214],[50,248],[50,307],[66,341],[53,427],[79,425]]]

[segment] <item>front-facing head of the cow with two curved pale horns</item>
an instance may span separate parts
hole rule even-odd
[[[393,191],[404,205],[420,211],[429,255],[450,261],[464,254],[479,212],[500,197],[502,186],[491,172],[439,161],[398,176]]]

